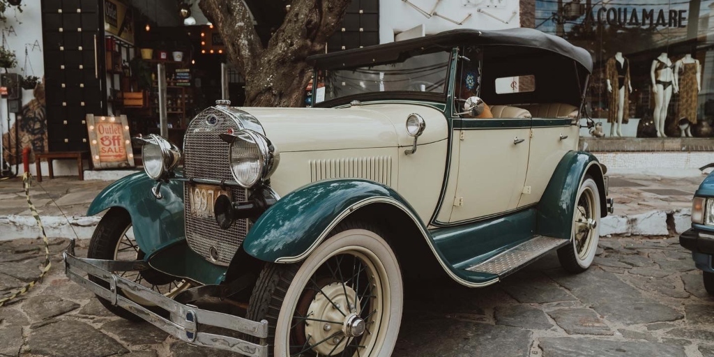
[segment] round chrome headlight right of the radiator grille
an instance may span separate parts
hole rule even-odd
[[[270,178],[280,162],[280,153],[270,140],[255,131],[243,129],[235,134],[221,134],[231,143],[228,162],[238,185],[251,188]]]

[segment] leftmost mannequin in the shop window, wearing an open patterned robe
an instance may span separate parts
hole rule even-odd
[[[623,136],[621,126],[623,121],[628,122],[628,106],[630,105],[630,93],[632,84],[630,83],[630,61],[623,57],[622,52],[605,63],[605,76],[610,92],[610,111],[608,111],[608,122],[610,122],[610,136]],[[617,88],[613,91],[613,84]],[[617,130],[615,130],[615,126]]]

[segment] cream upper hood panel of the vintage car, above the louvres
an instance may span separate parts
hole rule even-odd
[[[263,126],[279,151],[368,149],[398,146],[392,121],[356,108],[241,108]]]

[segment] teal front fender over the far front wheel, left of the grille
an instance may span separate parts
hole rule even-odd
[[[171,180],[161,185],[161,198],[154,197],[151,188],[156,181],[139,172],[119,179],[104,188],[94,198],[87,216],[94,216],[112,207],[129,212],[134,238],[149,258],[159,249],[185,236],[183,222],[183,182]]]

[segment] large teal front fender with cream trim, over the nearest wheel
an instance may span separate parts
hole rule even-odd
[[[301,261],[349,213],[374,201],[396,202],[418,220],[413,208],[387,186],[358,179],[319,181],[289,193],[263,213],[243,249],[261,261]]]

